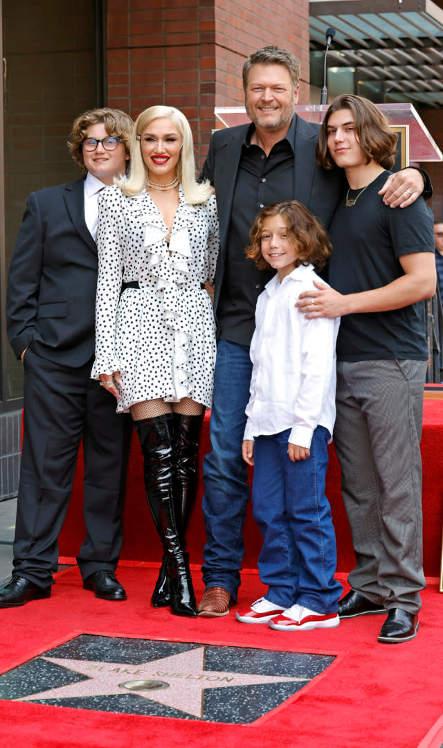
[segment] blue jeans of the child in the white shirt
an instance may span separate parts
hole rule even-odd
[[[311,455],[291,462],[291,429],[254,442],[253,515],[263,536],[258,558],[266,598],[285,608],[295,603],[317,613],[336,613],[341,584],[334,579],[337,554],[331,509],[324,488],[329,432],[317,426]]]

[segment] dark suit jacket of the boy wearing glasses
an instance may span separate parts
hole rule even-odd
[[[17,358],[30,344],[65,366],[93,357],[97,270],[84,179],[31,193],[7,285],[7,336]]]

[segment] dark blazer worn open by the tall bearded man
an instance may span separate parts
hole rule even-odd
[[[344,194],[344,172],[338,169],[325,171],[315,161],[320,125],[306,122],[297,114],[294,148],[294,189],[288,200],[299,200],[320,219],[323,226],[329,227],[338,200]],[[208,156],[202,174],[214,185],[217,197],[218,218],[220,221],[220,254],[214,281],[214,311],[220,300],[226,265],[229,222],[237,179],[241,147],[250,125],[239,125],[217,130],[211,137]]]

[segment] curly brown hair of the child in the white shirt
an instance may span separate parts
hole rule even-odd
[[[250,230],[247,258],[255,261],[258,270],[273,270],[261,254],[261,232],[265,219],[274,215],[282,215],[288,228],[288,241],[297,251],[296,268],[312,263],[316,270],[323,269],[331,254],[329,236],[312,212],[297,200],[272,203],[258,213]]]

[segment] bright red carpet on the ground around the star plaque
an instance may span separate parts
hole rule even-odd
[[[52,598],[1,610],[0,672],[78,634],[152,638],[258,649],[336,654],[300,694],[252,725],[196,723],[162,717],[83,711],[0,701],[5,748],[394,748],[437,747],[442,717],[443,595],[424,592],[421,630],[412,642],[377,643],[382,616],[344,621],[338,628],[297,634],[225,618],[180,619],[149,607],[156,569],[122,565],[128,601],[97,600],[81,588],[76,568],[58,574]],[[200,575],[193,572],[197,596]],[[261,594],[255,573],[244,574],[240,604]],[[432,731],[430,733],[430,731]],[[440,745],[440,744],[439,744]]]

